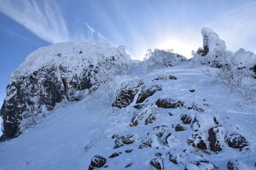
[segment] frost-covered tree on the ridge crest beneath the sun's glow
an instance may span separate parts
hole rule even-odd
[[[180,61],[186,60],[186,57],[173,53],[172,49],[159,50],[156,48],[153,51],[148,49],[147,54],[143,59],[142,68],[144,72],[148,72],[152,69],[174,66]]]

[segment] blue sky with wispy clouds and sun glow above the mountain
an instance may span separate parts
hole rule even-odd
[[[148,48],[173,49],[190,58],[202,46],[202,27],[228,50],[256,52],[256,1],[245,0],[0,0],[0,103],[8,77],[42,46],[76,39],[126,45],[142,60]]]

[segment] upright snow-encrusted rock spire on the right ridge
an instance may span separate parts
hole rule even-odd
[[[227,50],[225,41],[221,40],[219,35],[210,28],[202,28],[203,46],[205,55],[208,52],[213,52],[213,49]]]

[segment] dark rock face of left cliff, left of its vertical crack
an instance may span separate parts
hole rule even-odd
[[[4,120],[2,139],[18,136],[20,121],[30,117],[31,113],[40,113],[42,108],[52,110],[55,104],[64,98],[63,89],[64,86],[58,78],[55,65],[45,66],[9,84],[0,111]]]

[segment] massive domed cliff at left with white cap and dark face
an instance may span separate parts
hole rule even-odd
[[[115,48],[102,41],[80,40],[32,52],[10,76],[0,112],[1,140],[20,134],[22,119],[51,111],[63,99],[81,100],[88,89],[99,82],[95,75],[102,68],[118,68],[122,62],[138,65],[125,50],[125,46]],[[116,74],[125,73],[129,73],[129,69],[116,71]]]

